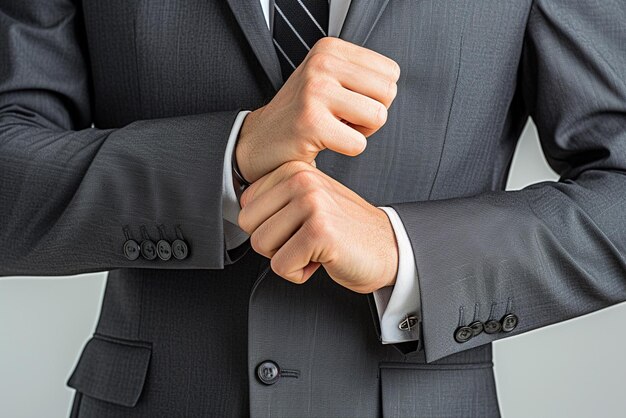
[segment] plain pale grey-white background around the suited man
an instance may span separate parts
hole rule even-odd
[[[555,178],[529,125],[508,188]],[[0,280],[0,417],[67,416],[65,381],[93,332],[104,277]],[[503,416],[626,416],[625,323],[621,304],[495,343]]]

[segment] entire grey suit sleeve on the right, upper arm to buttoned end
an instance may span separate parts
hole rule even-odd
[[[427,361],[626,300],[626,5],[536,0],[520,93],[560,181],[392,205],[415,253]],[[455,341],[460,325],[519,322]]]

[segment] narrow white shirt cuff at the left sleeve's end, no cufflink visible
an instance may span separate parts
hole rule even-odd
[[[245,233],[237,222],[241,206],[239,206],[239,200],[235,193],[235,186],[233,184],[233,152],[235,152],[235,144],[239,137],[239,131],[243,126],[243,121],[250,113],[248,110],[239,112],[233,127],[230,130],[228,136],[228,143],[226,144],[226,151],[224,152],[224,172],[222,174],[222,217],[224,218],[224,242],[227,250],[232,250],[243,244],[248,238],[248,234]]]

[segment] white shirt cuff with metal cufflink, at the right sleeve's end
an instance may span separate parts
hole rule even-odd
[[[398,275],[394,286],[374,292],[383,344],[397,344],[419,339],[421,304],[417,267],[411,242],[395,210],[380,207],[389,218],[398,243]]]

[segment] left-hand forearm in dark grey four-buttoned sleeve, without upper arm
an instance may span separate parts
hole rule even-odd
[[[24,107],[0,114],[1,275],[120,267],[222,268],[222,169],[237,112],[138,121],[120,129],[44,126]],[[177,238],[183,260],[129,260],[124,242]],[[127,237],[124,229],[130,232]]]

